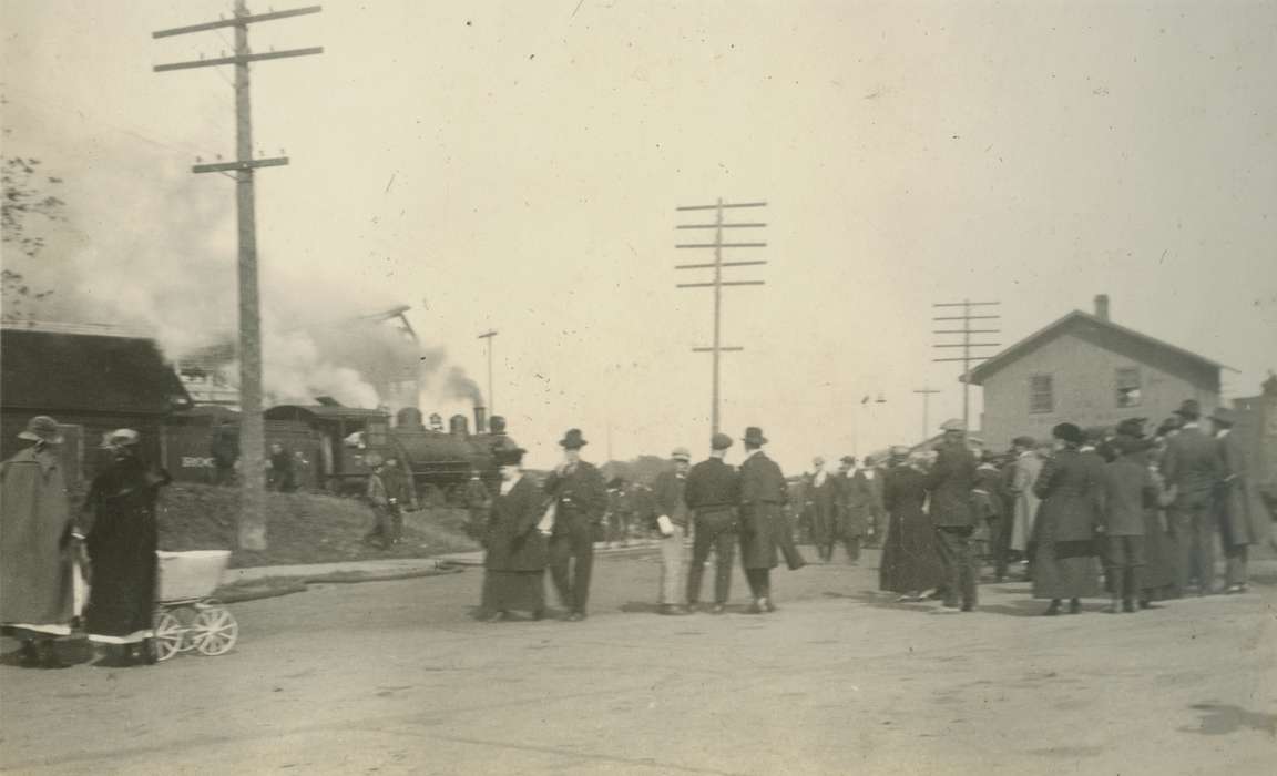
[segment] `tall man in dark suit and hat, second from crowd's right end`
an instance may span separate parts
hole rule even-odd
[[[1188,590],[1195,579],[1198,595],[1209,595],[1214,587],[1214,493],[1223,480],[1220,448],[1202,431],[1197,401],[1185,401],[1175,414],[1180,429],[1166,440],[1162,475],[1175,494],[1180,590]]]

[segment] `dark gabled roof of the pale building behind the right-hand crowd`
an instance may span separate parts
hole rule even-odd
[[[1216,387],[1218,385],[1220,370],[1225,369],[1222,364],[1183,347],[1162,342],[1156,337],[1119,325],[1098,315],[1074,310],[976,366],[960,379],[973,385],[982,385],[1004,366],[1065,334],[1077,336],[1142,364],[1156,364],[1172,374],[1213,382]]]

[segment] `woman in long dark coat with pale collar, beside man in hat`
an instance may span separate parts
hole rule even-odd
[[[522,449],[497,452],[501,493],[493,499],[484,536],[481,610],[488,622],[510,619],[511,611],[545,614],[545,535],[538,525],[545,513],[541,490],[525,477]]]

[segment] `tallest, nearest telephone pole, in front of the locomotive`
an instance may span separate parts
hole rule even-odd
[[[239,546],[266,549],[266,422],[262,417],[262,314],[257,271],[257,217],[253,171],[278,167],[289,157],[253,158],[253,120],[249,89],[249,63],[323,54],[322,47],[292,48],[253,54],[248,45],[248,26],[319,13],[321,6],[250,14],[245,0],[235,0],[230,19],[176,27],[151,33],[153,38],[235,28],[235,52],[218,59],[156,65],[156,73],[192,68],[235,66],[235,160],[195,165],[192,172],[235,172],[235,214],[239,225],[239,324],[240,324],[240,518]],[[198,160],[197,160],[198,161]]]

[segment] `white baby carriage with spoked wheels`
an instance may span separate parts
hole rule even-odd
[[[160,602],[155,618],[157,660],[178,652],[225,655],[239,638],[239,623],[216,599],[230,550],[156,553],[160,556]]]

